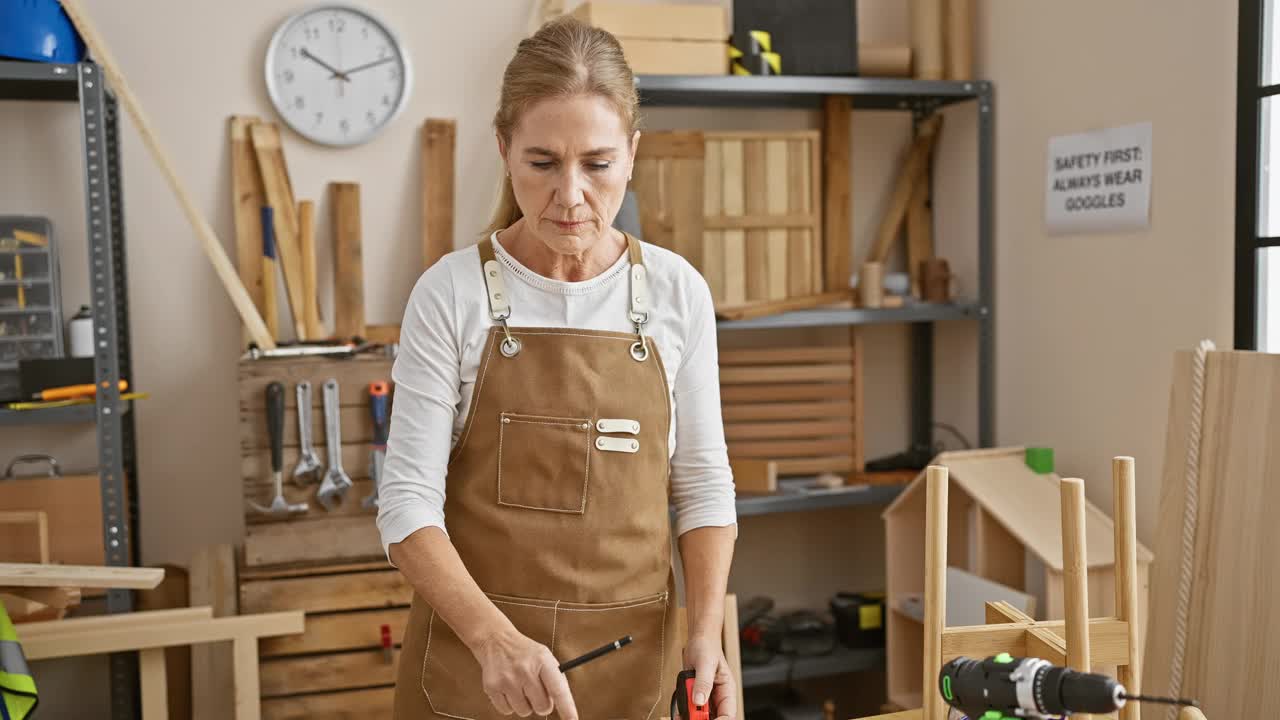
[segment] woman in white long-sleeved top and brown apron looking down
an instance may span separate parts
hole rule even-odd
[[[637,120],[611,35],[559,19],[522,41],[494,120],[507,177],[492,227],[413,288],[378,515],[416,591],[399,719],[657,719],[682,667],[713,717],[736,717],[710,292],[678,255],[612,228]]]

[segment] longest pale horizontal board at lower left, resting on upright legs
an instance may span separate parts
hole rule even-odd
[[[136,619],[133,626],[123,628],[86,629],[78,626],[74,619],[58,620],[60,632],[23,637],[23,651],[27,660],[49,660],[243,638],[253,646],[256,661],[256,638],[302,632],[302,612],[296,610],[160,624],[148,623],[145,618],[148,612],[132,615]]]

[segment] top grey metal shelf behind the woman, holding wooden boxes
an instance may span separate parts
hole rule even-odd
[[[987,82],[810,76],[637,76],[646,105],[817,108],[827,95],[847,95],[854,108],[906,110],[975,100]]]

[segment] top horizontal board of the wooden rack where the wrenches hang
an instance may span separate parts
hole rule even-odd
[[[369,406],[369,383],[390,380],[389,357],[360,356],[347,360],[244,360],[239,364],[241,410],[265,410],[266,386],[284,383],[284,406],[297,405],[296,386],[311,383],[311,404],[321,407],[321,386],[329,378],[338,380],[338,404]]]

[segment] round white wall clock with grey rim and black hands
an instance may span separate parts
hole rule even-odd
[[[298,13],[266,51],[266,88],[285,123],[324,145],[372,138],[399,113],[412,77],[408,53],[365,10],[324,5]]]

